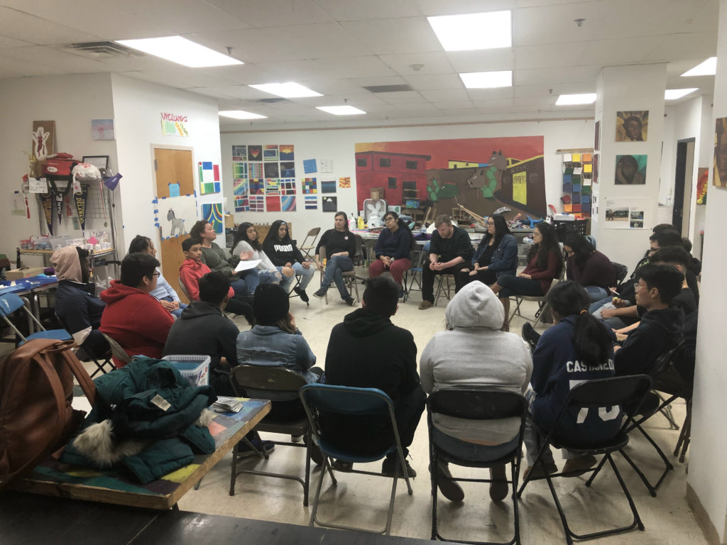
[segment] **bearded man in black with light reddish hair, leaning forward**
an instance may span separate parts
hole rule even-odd
[[[465,284],[466,278],[459,271],[469,267],[475,249],[470,233],[454,227],[449,216],[434,219],[437,230],[432,234],[429,246],[429,262],[422,265],[422,302],[419,310],[434,306],[434,275],[454,275],[454,292]]]

